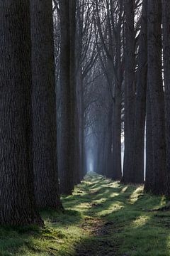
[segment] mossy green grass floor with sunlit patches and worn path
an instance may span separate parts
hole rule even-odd
[[[165,197],[91,174],[62,203],[41,213],[45,228],[0,228],[0,255],[170,256]]]

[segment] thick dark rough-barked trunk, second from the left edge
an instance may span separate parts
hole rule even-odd
[[[60,209],[52,1],[30,2],[35,198],[39,208]]]

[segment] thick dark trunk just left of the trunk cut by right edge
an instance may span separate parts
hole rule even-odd
[[[162,83],[162,1],[148,1],[148,85],[152,107],[154,189],[165,193],[166,143]]]

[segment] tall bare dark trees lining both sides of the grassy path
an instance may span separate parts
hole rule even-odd
[[[169,14],[169,0],[0,1],[1,225],[43,225],[87,171],[170,196]]]

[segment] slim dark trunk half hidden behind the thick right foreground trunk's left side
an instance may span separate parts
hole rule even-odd
[[[152,146],[152,109],[147,87],[147,119],[146,119],[146,175],[145,191],[154,190],[154,169],[153,169],[153,146]]]

